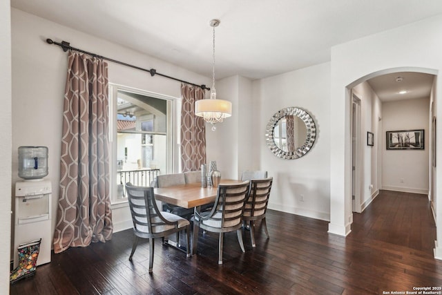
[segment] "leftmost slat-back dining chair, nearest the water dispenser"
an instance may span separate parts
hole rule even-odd
[[[155,194],[153,187],[136,187],[131,182],[126,183],[126,193],[128,196],[129,207],[131,209],[133,221],[133,233],[135,234],[131,256],[129,260],[132,261],[135,249],[137,249],[140,238],[149,240],[149,273],[153,269],[153,251],[154,239],[162,238],[170,234],[180,233],[184,230],[186,232],[187,247],[186,255],[191,256],[190,248],[190,222],[185,218],[175,214],[160,211],[155,202]]]

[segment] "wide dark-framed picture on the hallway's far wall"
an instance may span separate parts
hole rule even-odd
[[[425,149],[425,134],[423,129],[387,131],[387,149]]]

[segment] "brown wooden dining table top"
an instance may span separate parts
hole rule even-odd
[[[220,184],[239,184],[241,180],[221,180]],[[214,202],[218,187],[201,187],[200,182],[153,189],[155,199],[184,208],[198,207]]]

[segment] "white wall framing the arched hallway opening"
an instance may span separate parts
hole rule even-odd
[[[349,234],[352,220],[350,191],[350,138],[349,138],[349,93],[348,88],[374,75],[393,73],[398,70],[412,70],[437,75],[442,70],[442,16],[418,21],[361,39],[340,44],[332,48],[331,107],[333,120],[330,121],[331,138],[344,144],[332,144],[330,169],[330,214],[329,232],[345,236]],[[437,77],[436,88],[441,88]],[[436,93],[436,99],[441,99]],[[442,108],[436,111],[442,115]],[[441,120],[437,122],[441,129]],[[442,138],[437,137],[439,153]],[[441,157],[437,166],[442,164]],[[441,191],[442,179],[436,181]],[[440,202],[439,202],[440,203]],[[442,205],[437,204],[437,216],[441,216]],[[437,222],[437,240],[442,242],[442,220]],[[436,243],[436,257],[442,258],[442,248]]]

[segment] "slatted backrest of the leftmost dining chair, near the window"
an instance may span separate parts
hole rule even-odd
[[[126,183],[133,229],[138,234],[157,234],[175,228],[175,222],[165,220],[155,202],[153,187],[135,187]]]

